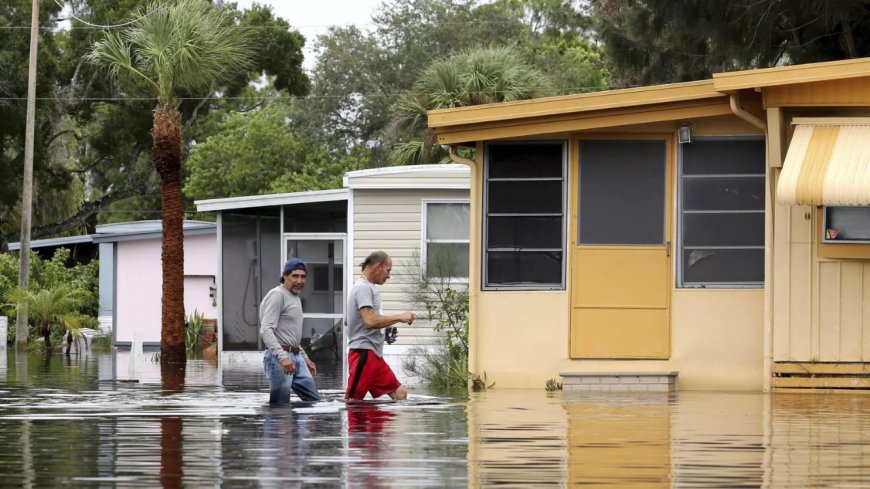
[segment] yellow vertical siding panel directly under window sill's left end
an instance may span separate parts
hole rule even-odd
[[[819,355],[814,360],[840,360],[840,263],[820,262],[818,294]]]

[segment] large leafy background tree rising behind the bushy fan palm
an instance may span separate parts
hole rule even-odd
[[[336,27],[317,39],[311,97],[292,129],[330,147],[364,144],[384,160],[391,107],[433,61],[475,47],[513,47],[554,80],[540,95],[603,88],[597,47],[579,0],[390,0],[372,28]]]

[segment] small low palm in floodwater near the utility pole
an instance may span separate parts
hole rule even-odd
[[[36,332],[45,341],[45,352],[52,353],[51,328],[60,326],[69,334],[78,336],[81,315],[79,308],[82,298],[66,285],[56,285],[38,291],[15,289],[10,299],[20,311],[27,308],[30,321],[36,326]]]

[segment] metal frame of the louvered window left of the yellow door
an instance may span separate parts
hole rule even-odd
[[[529,249],[492,249],[490,250],[488,247],[489,244],[489,218],[490,217],[518,217],[518,216],[555,216],[555,213],[499,213],[496,216],[490,216],[489,213],[489,182],[490,182],[490,167],[491,160],[490,155],[491,152],[489,148],[492,146],[519,146],[519,145],[559,145],[562,148],[562,174],[560,178],[556,177],[532,177],[532,178],[497,178],[493,181],[518,181],[518,182],[532,182],[532,181],[562,181],[562,205],[561,205],[561,213],[559,214],[562,219],[561,225],[561,236],[559,242],[561,243],[561,247],[557,250],[555,248],[529,248]],[[557,291],[557,290],[565,290],[566,286],[566,259],[568,255],[568,246],[567,246],[567,205],[568,205],[568,140],[565,139],[537,139],[537,140],[523,140],[523,141],[488,141],[484,143],[484,165],[483,165],[483,205],[481,206],[482,213],[482,229],[481,229],[481,246],[480,246],[480,259],[481,259],[481,290],[539,290],[539,291]],[[552,252],[559,251],[562,253],[562,264],[561,264],[561,280],[559,283],[551,283],[551,284],[516,284],[516,285],[507,285],[507,284],[490,284],[489,282],[489,253],[490,252],[505,252],[505,251],[513,251],[513,252],[521,252],[521,251],[529,251],[529,252]]]

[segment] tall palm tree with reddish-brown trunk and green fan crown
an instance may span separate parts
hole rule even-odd
[[[120,31],[108,31],[88,54],[128,90],[157,96],[152,159],[161,181],[163,301],[160,358],[185,362],[184,209],[181,199],[181,112],[178,93],[211,93],[251,66],[251,41],[205,0],[151,3]]]

